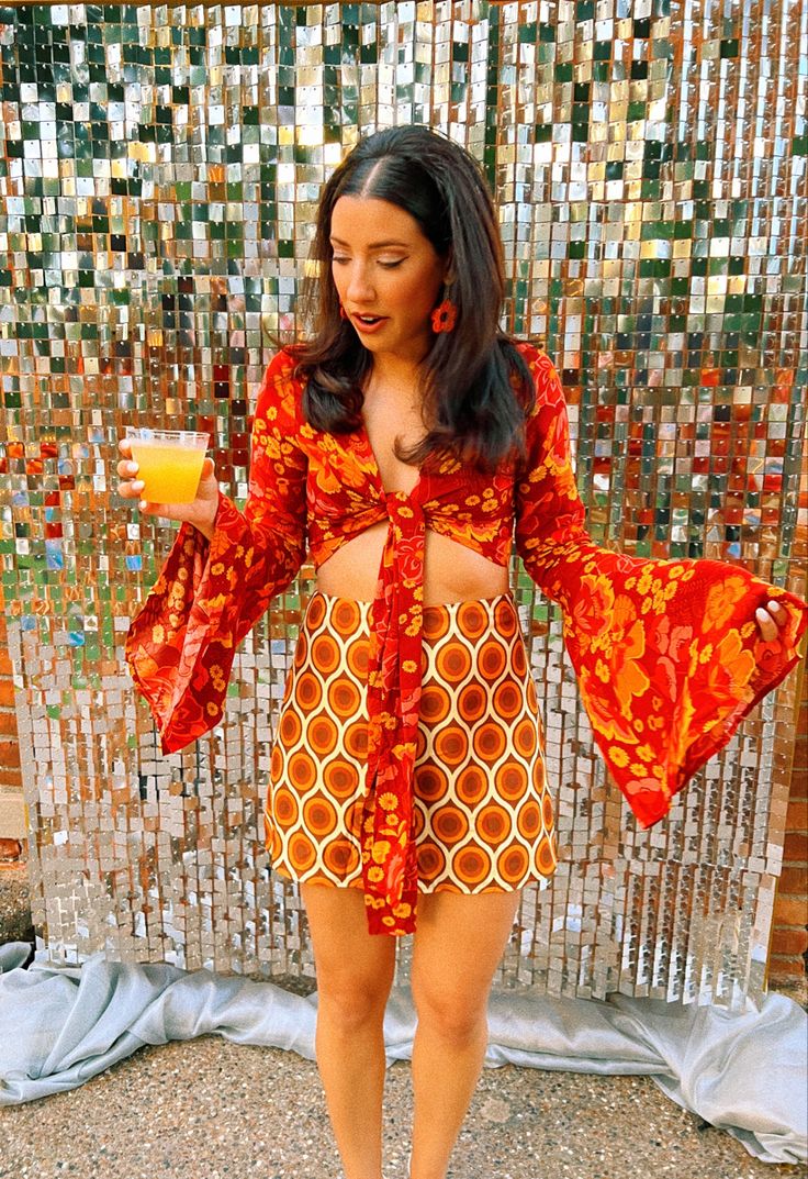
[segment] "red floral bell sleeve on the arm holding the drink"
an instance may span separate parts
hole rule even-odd
[[[244,512],[223,493],[208,541],[183,523],[132,620],[126,661],[164,753],[224,712],[236,648],[298,573],[306,553],[306,457],[297,441],[294,362],[279,353],[258,394]]]

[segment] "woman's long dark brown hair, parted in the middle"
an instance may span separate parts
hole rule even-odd
[[[331,215],[346,196],[397,205],[441,257],[451,250],[456,324],[435,335],[422,363],[428,433],[398,457],[420,465],[433,452],[450,452],[485,470],[518,459],[535,394],[515,342],[499,329],[505,277],[496,210],[475,158],[424,126],[390,127],[360,140],[323,190],[313,265],[303,288],[304,320],[313,334],[291,349],[307,422],[331,434],[358,429],[372,368],[372,354],[340,317],[332,276]],[[443,291],[438,303],[442,298]]]

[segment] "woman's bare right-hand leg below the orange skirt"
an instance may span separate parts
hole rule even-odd
[[[444,1179],[483,1068],[488,997],[519,893],[418,897],[412,997],[412,1179]]]

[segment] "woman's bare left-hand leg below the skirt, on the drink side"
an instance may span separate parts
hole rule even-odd
[[[367,933],[362,889],[303,884],[317,969],[317,1067],[345,1179],[382,1179],[384,1009],[396,938]]]

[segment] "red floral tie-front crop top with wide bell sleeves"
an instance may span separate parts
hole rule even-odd
[[[163,751],[221,718],[236,647],[294,578],[379,521],[388,536],[371,610],[363,881],[371,933],[415,929],[412,776],[420,700],[424,536],[431,528],[505,566],[511,544],[559,602],[595,740],[643,826],[795,664],[808,606],[744,568],[610,552],[584,531],[564,396],[549,357],[519,345],[536,383],[526,459],[494,475],[428,461],[410,494],[386,494],[364,428],[303,417],[294,362],[270,363],[256,407],[244,513],[220,495],[212,541],[183,525],[131,625],[126,658]],[[755,608],[787,621],[764,643]],[[396,806],[376,805],[384,792]],[[385,799],[385,803],[388,799]],[[378,872],[367,869],[382,864]],[[373,877],[373,878],[371,878]]]

